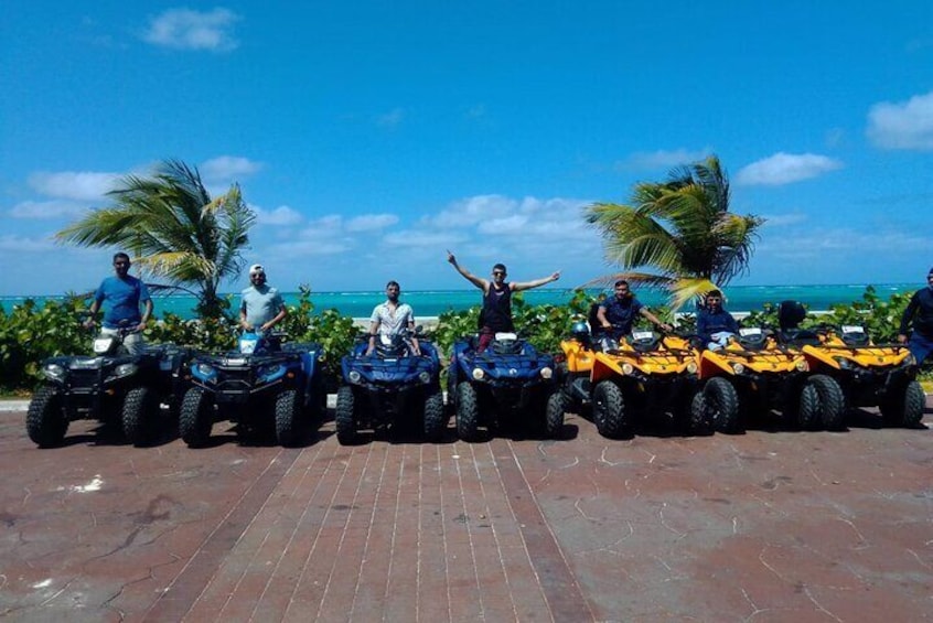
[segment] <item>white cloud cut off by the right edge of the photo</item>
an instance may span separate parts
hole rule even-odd
[[[933,92],[905,103],[876,104],[868,111],[866,135],[881,149],[933,150]]]

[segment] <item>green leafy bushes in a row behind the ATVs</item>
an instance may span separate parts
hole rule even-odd
[[[340,377],[340,359],[352,347],[360,329],[352,318],[341,315],[337,310],[315,314],[310,288],[302,286],[300,292],[298,304],[289,307],[282,329],[291,341],[322,345],[324,370],[333,387]],[[893,294],[883,301],[875,288],[868,287],[860,301],[833,305],[827,314],[808,313],[803,326],[861,324],[876,343],[890,343],[897,340],[898,325],[910,297],[910,293]],[[515,329],[537,348],[558,352],[560,340],[567,335],[572,322],[586,320],[590,305],[596,301],[596,298],[578,291],[565,305],[529,305],[521,293],[516,294],[513,299]],[[0,308],[0,391],[9,394],[32,389],[40,380],[40,366],[46,357],[89,352],[92,335],[84,329],[81,315],[87,307],[86,298],[68,296],[62,302],[49,300],[42,307],[26,300],[9,313]],[[665,307],[652,311],[663,321],[671,322],[673,319],[671,310]],[[431,337],[442,357],[450,355],[457,340],[478,332],[479,315],[480,307],[475,305],[469,310],[449,310],[439,316]],[[689,332],[695,322],[691,314],[686,314],[679,316],[677,325]],[[761,310],[752,311],[741,324],[776,326],[778,308],[768,303]],[[647,327],[650,323],[640,318],[636,326]],[[236,322],[228,316],[191,321],[167,313],[159,322],[150,323],[146,337],[151,343],[172,342],[211,352],[226,351],[235,345]],[[930,373],[924,374],[924,378],[931,376]]]

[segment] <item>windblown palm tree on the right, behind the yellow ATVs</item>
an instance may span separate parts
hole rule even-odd
[[[671,171],[666,182],[636,184],[631,205],[596,203],[586,218],[601,230],[607,259],[623,269],[590,283],[665,287],[675,309],[746,272],[764,224],[729,212],[729,181],[716,155]],[[643,267],[655,271],[636,271]]]

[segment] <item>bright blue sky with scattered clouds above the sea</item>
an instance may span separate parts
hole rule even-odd
[[[733,283],[923,282],[933,4],[14,0],[0,24],[0,296],[96,286],[51,236],[164,159],[259,215],[283,290],[610,271],[581,219],[719,155],[768,218]],[[245,276],[230,289],[238,289]]]

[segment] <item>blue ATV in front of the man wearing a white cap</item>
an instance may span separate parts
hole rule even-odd
[[[326,410],[320,344],[279,345],[282,335],[243,333],[238,348],[191,361],[191,387],[179,415],[181,438],[202,447],[215,421],[236,422],[240,434],[275,422],[281,445],[296,445],[303,426]]]

